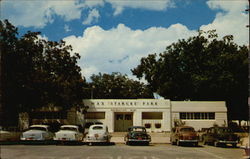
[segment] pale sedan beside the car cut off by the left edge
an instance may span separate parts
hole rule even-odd
[[[53,140],[54,134],[48,125],[31,125],[21,134],[21,140]]]

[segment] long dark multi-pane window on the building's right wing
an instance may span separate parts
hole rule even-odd
[[[180,112],[180,119],[184,120],[213,120],[215,119],[214,112]]]

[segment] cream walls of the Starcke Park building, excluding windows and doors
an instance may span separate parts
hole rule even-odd
[[[227,109],[225,102],[212,101],[170,101],[165,99],[87,99],[84,104],[89,106],[88,112],[105,112],[101,121],[107,125],[110,132],[115,131],[116,113],[130,113],[134,126],[151,124],[149,132],[170,131],[175,120],[181,120],[196,130],[208,128],[217,124],[227,126]],[[143,119],[143,112],[162,112],[161,119]],[[181,119],[180,113],[200,113],[202,116],[212,114],[212,119]],[[85,122],[90,120],[85,120]],[[92,120],[94,121],[94,120]],[[156,124],[161,124],[156,128]]]

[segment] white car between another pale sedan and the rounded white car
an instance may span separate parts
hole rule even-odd
[[[60,130],[55,133],[54,140],[62,142],[71,142],[71,141],[82,141],[83,133],[80,130],[79,126],[76,125],[62,125]]]

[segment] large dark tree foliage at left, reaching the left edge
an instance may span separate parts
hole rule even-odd
[[[17,37],[16,27],[7,20],[0,22],[5,118],[47,105],[66,110],[82,104],[85,80],[77,65],[79,54],[71,55],[72,48],[64,41],[44,40],[39,34]]]

